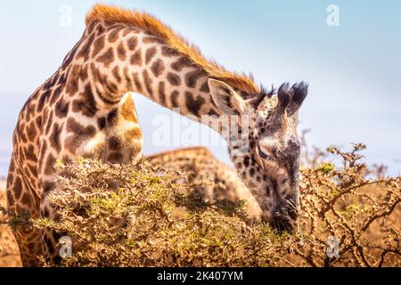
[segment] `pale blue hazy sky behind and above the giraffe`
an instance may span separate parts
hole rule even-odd
[[[78,42],[86,12],[96,2],[0,1],[0,176],[6,175],[20,108]],[[309,143],[349,148],[350,142],[364,142],[368,163],[388,165],[391,175],[401,173],[400,1],[107,3],[155,14],[227,69],[252,72],[266,86],[306,80],[310,88],[299,129],[312,129]],[[60,24],[64,4],[72,12],[67,27]],[[339,27],[326,23],[329,4],[340,8]],[[176,149],[152,142],[160,127],[154,116],[171,118],[171,112],[141,95],[135,103],[145,154]],[[228,162],[224,146],[211,150]]]

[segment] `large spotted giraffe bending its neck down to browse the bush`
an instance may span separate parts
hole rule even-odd
[[[298,110],[307,85],[284,84],[277,96],[251,77],[207,60],[195,46],[145,12],[96,4],[86,30],[61,67],[29,97],[13,134],[7,178],[9,212],[55,219],[57,159],[129,163],[142,156],[142,132],[132,94],[213,127],[244,127],[244,145],[228,151],[244,185],[279,230],[294,231],[299,205]],[[230,124],[202,122],[226,116]],[[232,124],[233,123],[233,124]],[[232,127],[233,126],[233,127]],[[238,143],[237,143],[238,142]],[[242,142],[242,141],[241,141]],[[249,147],[248,147],[249,146]],[[247,148],[248,147],[248,148]],[[245,149],[237,155],[238,149]],[[28,226],[14,230],[23,265],[58,258],[59,236]]]

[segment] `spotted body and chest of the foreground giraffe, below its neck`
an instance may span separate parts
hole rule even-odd
[[[44,91],[39,89],[37,92]],[[110,163],[135,162],[142,157],[142,130],[131,94],[126,94],[119,104],[79,122],[77,114],[64,107],[53,110],[53,119],[45,119],[51,110],[37,112],[37,117],[33,117],[31,109],[40,103],[36,99],[34,94],[21,110],[19,125],[14,132],[14,146],[18,147],[14,147],[12,152],[7,179],[8,208],[15,216],[27,213],[32,217],[53,219],[53,210],[46,196],[57,191],[57,175],[62,175],[54,169],[56,159],[65,163],[78,157]],[[57,112],[64,110],[65,117],[59,120]],[[46,122],[45,127],[39,124],[42,121]],[[82,121],[86,122],[85,125]],[[26,139],[29,142],[25,142]],[[53,245],[57,244],[58,237],[53,233],[22,227],[14,230],[14,235],[23,265],[37,265],[37,256],[45,250],[47,256],[57,254]]]

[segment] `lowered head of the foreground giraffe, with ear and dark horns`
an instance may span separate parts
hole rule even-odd
[[[241,180],[258,200],[263,219],[279,231],[294,232],[299,208],[298,110],[307,97],[307,84],[286,83],[277,95],[250,96],[209,79],[209,89],[221,113],[239,115],[242,130],[247,120],[247,143],[244,134],[241,146],[231,138],[229,152]]]

